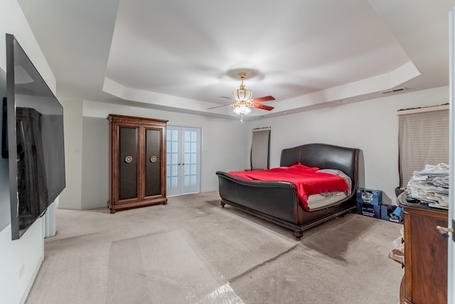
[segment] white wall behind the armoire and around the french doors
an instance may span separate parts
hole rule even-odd
[[[169,125],[200,127],[201,147],[201,192],[218,189],[218,170],[242,170],[248,167],[250,147],[247,136],[250,129],[237,120],[225,120],[199,115],[134,108],[107,103],[84,101],[82,119],[82,189],[77,184],[67,184],[65,191],[82,192],[80,209],[107,206],[109,199],[109,114],[151,117],[168,120]],[[75,122],[77,123],[77,122]],[[77,127],[71,127],[77,130]],[[77,131],[76,131],[77,132]],[[65,137],[71,137],[65,130]],[[67,151],[67,161],[74,155]],[[75,157],[77,160],[77,157]],[[68,174],[67,174],[68,175]],[[60,206],[66,204],[60,196]]]

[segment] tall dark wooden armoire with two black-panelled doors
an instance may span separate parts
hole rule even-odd
[[[109,114],[109,209],[167,204],[166,122]]]

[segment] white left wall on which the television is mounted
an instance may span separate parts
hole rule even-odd
[[[0,92],[5,95],[5,33],[16,36],[24,51],[55,92],[55,78],[16,0],[0,0]],[[0,160],[0,301],[22,303],[43,261],[43,219],[11,241],[8,162]],[[6,214],[6,216],[5,216]]]

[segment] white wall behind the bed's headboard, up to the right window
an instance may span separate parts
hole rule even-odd
[[[279,166],[281,150],[311,142],[357,147],[365,165],[363,186],[383,191],[382,201],[395,202],[398,174],[397,110],[449,103],[449,88],[402,93],[334,108],[249,122],[249,129],[272,127],[270,165]],[[248,137],[251,145],[251,135]]]

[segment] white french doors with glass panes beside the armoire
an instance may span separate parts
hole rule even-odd
[[[200,192],[200,128],[166,129],[167,196]]]

